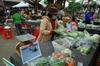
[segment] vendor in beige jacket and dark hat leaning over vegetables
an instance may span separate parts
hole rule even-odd
[[[56,29],[56,19],[57,19],[58,9],[56,7],[51,7],[48,9],[47,16],[43,16],[40,24],[40,33],[37,41],[40,43],[49,41],[52,38],[53,32]]]

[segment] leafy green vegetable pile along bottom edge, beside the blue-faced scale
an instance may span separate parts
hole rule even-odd
[[[65,66],[65,62],[55,59],[48,59],[47,57],[42,57],[35,61],[32,61],[29,66]]]

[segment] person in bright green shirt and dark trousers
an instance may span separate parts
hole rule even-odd
[[[21,13],[18,10],[16,10],[15,14],[13,14],[12,16],[12,19],[16,27],[17,35],[22,34],[21,24],[22,24],[22,20],[24,19],[24,17],[21,15]]]

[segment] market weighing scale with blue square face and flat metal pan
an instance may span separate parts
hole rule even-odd
[[[23,64],[42,56],[39,43],[34,42],[35,37],[33,35],[19,35],[16,36],[16,39],[19,41],[15,47],[16,53],[21,57]]]

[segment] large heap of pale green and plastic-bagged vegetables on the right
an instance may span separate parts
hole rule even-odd
[[[87,31],[67,32],[65,38],[57,39],[55,42],[66,48],[74,47],[82,54],[87,55],[100,43],[100,35],[90,35]]]

